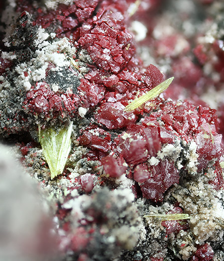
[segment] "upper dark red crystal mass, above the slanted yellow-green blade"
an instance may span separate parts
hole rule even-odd
[[[28,104],[28,108],[34,113],[39,114],[42,110],[47,116],[48,112],[54,114],[67,111],[71,117],[75,117],[79,102],[84,108],[96,107],[101,102],[99,116],[97,116],[100,122],[104,124],[108,122],[104,118],[110,118],[113,124],[106,124],[107,128],[124,128],[129,123],[130,117],[130,113],[123,111],[128,100],[134,99],[137,91],[142,95],[158,85],[164,76],[152,64],[144,68],[141,60],[136,57],[133,35],[125,27],[127,3],[119,8],[118,4],[114,3],[109,8],[104,2],[102,9],[93,16],[97,3],[98,1],[83,4],[75,2],[70,6],[59,4],[56,10],[48,13],[40,9],[37,13],[29,10],[34,17],[37,16],[36,24],[41,25],[42,28],[51,28],[51,30],[54,28],[59,38],[69,37],[74,46],[90,55],[92,64],[88,64],[89,72],[80,79],[80,86],[77,87],[78,97],[71,93],[53,95],[53,92],[49,95],[41,95],[38,91],[36,94],[38,97],[35,96],[33,99],[34,89],[39,88],[32,87],[27,94],[25,104]],[[21,3],[17,11],[27,10],[28,6],[28,3]],[[73,25],[75,21],[77,24]],[[75,61],[79,61],[79,57],[76,57]],[[51,64],[52,66],[55,65]],[[73,112],[74,116],[70,112]],[[132,116],[133,122],[136,119]]]

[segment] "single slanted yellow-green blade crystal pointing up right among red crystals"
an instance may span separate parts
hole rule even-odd
[[[165,80],[164,82],[160,83],[159,85],[157,85],[155,88],[153,88],[146,94],[142,95],[139,98],[134,99],[133,102],[131,102],[130,104],[128,104],[125,107],[124,111],[126,111],[126,112],[133,111],[136,108],[140,107],[143,103],[155,98],[156,96],[158,96],[160,93],[162,93],[164,90],[166,90],[170,86],[173,79],[174,79],[174,77],[171,77],[171,78]]]

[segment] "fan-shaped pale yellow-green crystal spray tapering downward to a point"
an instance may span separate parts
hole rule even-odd
[[[39,142],[51,172],[51,179],[60,175],[65,167],[71,150],[71,134],[73,123],[69,128],[42,130],[39,127]]]

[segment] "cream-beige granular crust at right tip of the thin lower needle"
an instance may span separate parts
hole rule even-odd
[[[190,227],[195,244],[202,245],[207,240],[217,241],[223,231],[224,208],[216,197],[211,185],[205,184],[202,176],[197,182],[189,182],[185,188],[179,185],[174,188],[172,196],[177,199],[184,212],[191,219]]]

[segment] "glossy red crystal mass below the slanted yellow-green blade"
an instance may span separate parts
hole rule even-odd
[[[222,135],[217,133],[218,122],[215,111],[210,108],[197,108],[189,102],[176,104],[163,100],[160,100],[160,103],[157,101],[157,105],[150,113],[148,109],[146,111],[147,113],[143,113],[144,118],[137,124],[132,123],[133,117],[126,118],[128,123],[126,130],[113,141],[85,131],[80,136],[80,144],[98,152],[113,151],[114,156],[109,155],[103,159],[102,156],[98,156],[102,160],[105,172],[111,177],[119,177],[125,172],[124,166],[127,164],[133,179],[139,183],[142,196],[154,201],[162,201],[167,189],[179,183],[179,170],[174,159],[172,161],[172,157],[168,155],[158,157],[155,165],[149,164],[150,158],[155,158],[164,145],[172,144],[171,147],[175,150],[177,140],[186,144],[194,141],[199,158],[198,171],[203,171],[211,160],[215,160],[216,177],[209,182],[215,189],[222,188],[224,181],[220,175],[222,170],[219,162],[223,154],[223,144]],[[96,114],[98,122],[108,129],[119,128],[117,125],[115,127],[115,123],[116,121],[124,123],[123,117],[118,114],[117,118],[111,118],[108,112],[110,110],[105,111],[104,114],[98,111]],[[129,114],[137,117],[133,113]],[[120,126],[123,127],[124,125]],[[95,130],[100,131],[99,128]],[[105,134],[105,131],[101,130],[99,133]],[[182,163],[184,161],[183,159]]]

